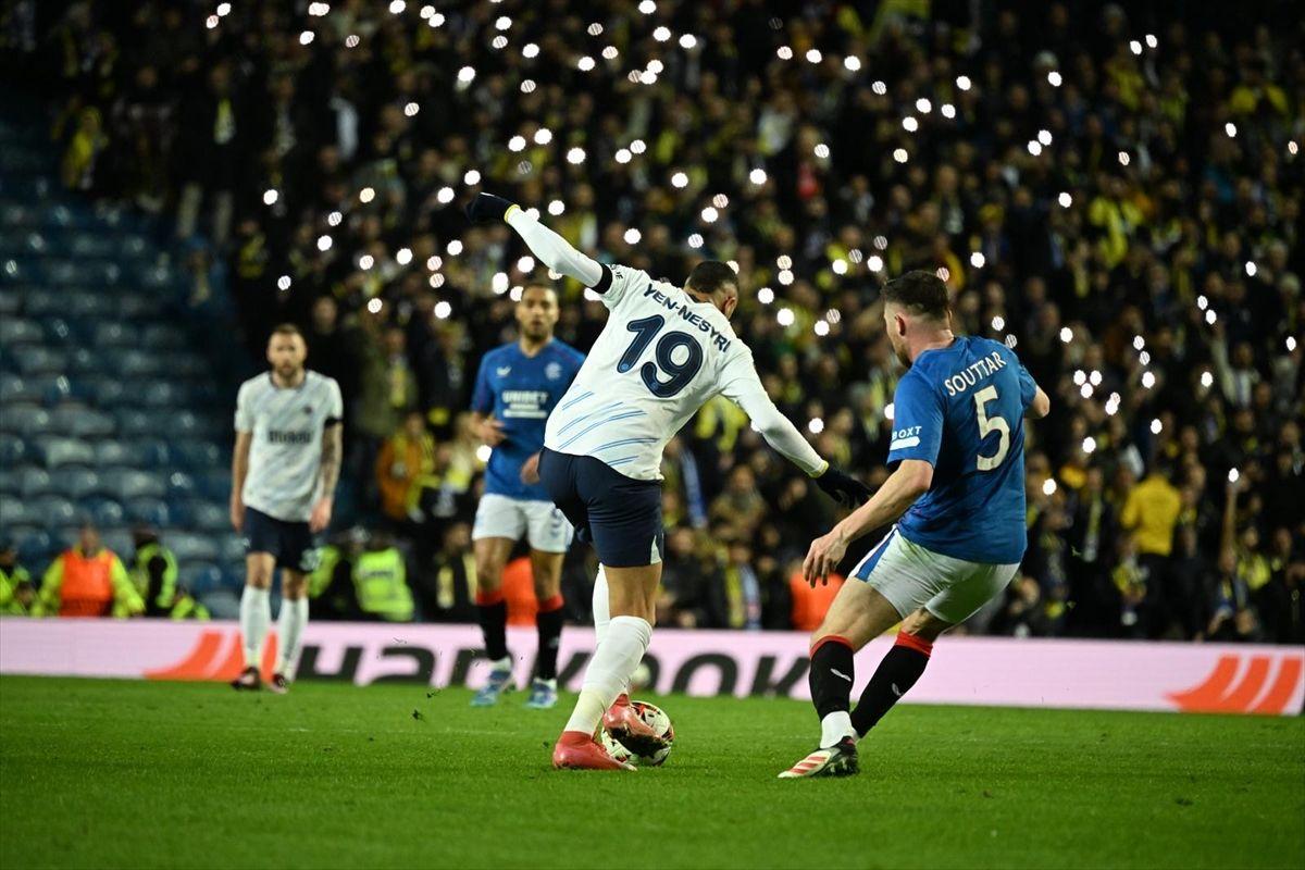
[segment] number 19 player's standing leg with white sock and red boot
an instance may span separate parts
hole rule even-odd
[[[553,749],[553,767],[634,770],[603,751],[594,742],[594,732],[647,651],[662,565],[604,566],[604,574],[612,618],[590,660],[576,710]]]

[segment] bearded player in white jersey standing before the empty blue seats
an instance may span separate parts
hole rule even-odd
[[[260,689],[262,643],[271,622],[271,575],[281,569],[279,651],[269,689],[284,693],[295,678],[308,625],[308,574],[316,567],[315,536],[330,524],[339,480],[345,403],[339,385],[304,368],[308,346],[292,323],[268,340],[271,370],[240,385],[236,447],[231,459],[231,524],[245,544],[240,634],[245,669],[236,689]]]

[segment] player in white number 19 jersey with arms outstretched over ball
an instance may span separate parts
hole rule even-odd
[[[722,262],[698,263],[684,287],[647,273],[606,266],[502,197],[480,193],[467,206],[476,223],[506,220],[535,258],[603,300],[609,316],[574,382],[548,417],[539,476],[594,545],[598,648],[576,710],[553,747],[553,767],[633,770],[594,741],[599,721],[629,741],[656,737],[625,693],[652,633],[662,579],[660,464],[666,442],[710,398],[736,402],[766,441],[844,505],[869,496],[831,470],[762,389],[752,352],[729,327],[739,278]]]

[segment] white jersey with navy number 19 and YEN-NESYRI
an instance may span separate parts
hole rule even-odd
[[[660,480],[666,442],[713,397],[724,394],[745,411],[773,406],[752,351],[715,305],[637,269],[611,273],[602,293],[607,326],[548,417],[544,446]]]

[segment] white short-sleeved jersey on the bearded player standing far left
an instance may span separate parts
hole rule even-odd
[[[251,432],[249,470],[241,498],[286,522],[308,522],[321,496],[322,430],[345,415],[339,383],[305,372],[296,387],[279,387],[271,372],[240,385],[236,432]]]

